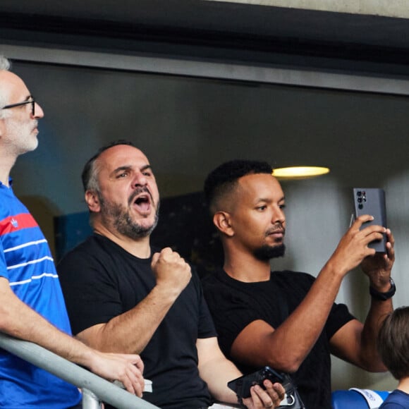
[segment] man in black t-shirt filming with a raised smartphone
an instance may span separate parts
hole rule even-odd
[[[359,216],[319,272],[271,271],[285,252],[283,190],[271,166],[230,161],[204,183],[224,248],[224,268],[203,281],[221,350],[244,373],[269,365],[290,372],[307,408],[331,407],[330,354],[368,371],[385,371],[375,339],[393,310],[393,235]],[[386,234],[386,253],[367,245]],[[372,302],[365,324],[336,304],[343,278],[360,265],[370,279]]]

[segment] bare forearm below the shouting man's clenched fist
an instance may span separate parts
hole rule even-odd
[[[176,294],[154,287],[133,309],[114,317],[106,324],[97,324],[81,331],[77,338],[103,352],[139,354],[149,343],[176,298]]]

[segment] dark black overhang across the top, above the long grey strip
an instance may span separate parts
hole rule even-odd
[[[409,75],[408,19],[301,3],[1,0],[0,41]]]

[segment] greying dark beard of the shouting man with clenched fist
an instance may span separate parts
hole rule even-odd
[[[142,224],[133,221],[129,210],[125,209],[121,204],[107,202],[102,197],[99,197],[99,203],[104,224],[113,227],[118,233],[133,240],[150,236],[158,224],[159,202],[151,226],[142,226]]]

